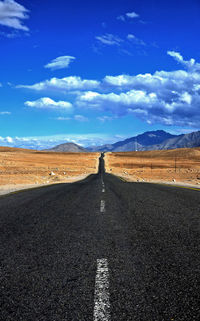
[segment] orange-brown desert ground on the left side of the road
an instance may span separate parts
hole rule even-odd
[[[0,147],[0,189],[79,180],[98,171],[99,155]]]

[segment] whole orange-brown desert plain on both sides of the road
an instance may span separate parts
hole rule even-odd
[[[0,147],[0,194],[70,183],[98,172],[100,153],[55,153]],[[200,185],[200,147],[105,153],[105,169],[135,182]]]

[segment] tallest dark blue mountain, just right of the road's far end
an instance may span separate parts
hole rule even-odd
[[[167,139],[177,137],[169,134],[164,130],[156,130],[145,132],[141,135],[125,139],[110,145],[103,145],[98,147],[88,148],[90,151],[104,151],[104,152],[125,152],[135,150],[145,150],[145,147],[150,145],[161,144]]]

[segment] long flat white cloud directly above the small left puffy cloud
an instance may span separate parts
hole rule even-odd
[[[51,78],[34,85],[18,85],[17,88],[33,89],[35,91],[60,91],[69,92],[74,90],[95,89],[99,86],[97,80],[81,79],[81,77],[70,76],[65,78]]]

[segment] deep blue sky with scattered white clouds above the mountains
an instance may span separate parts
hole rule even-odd
[[[0,145],[200,128],[199,0],[0,0]]]

